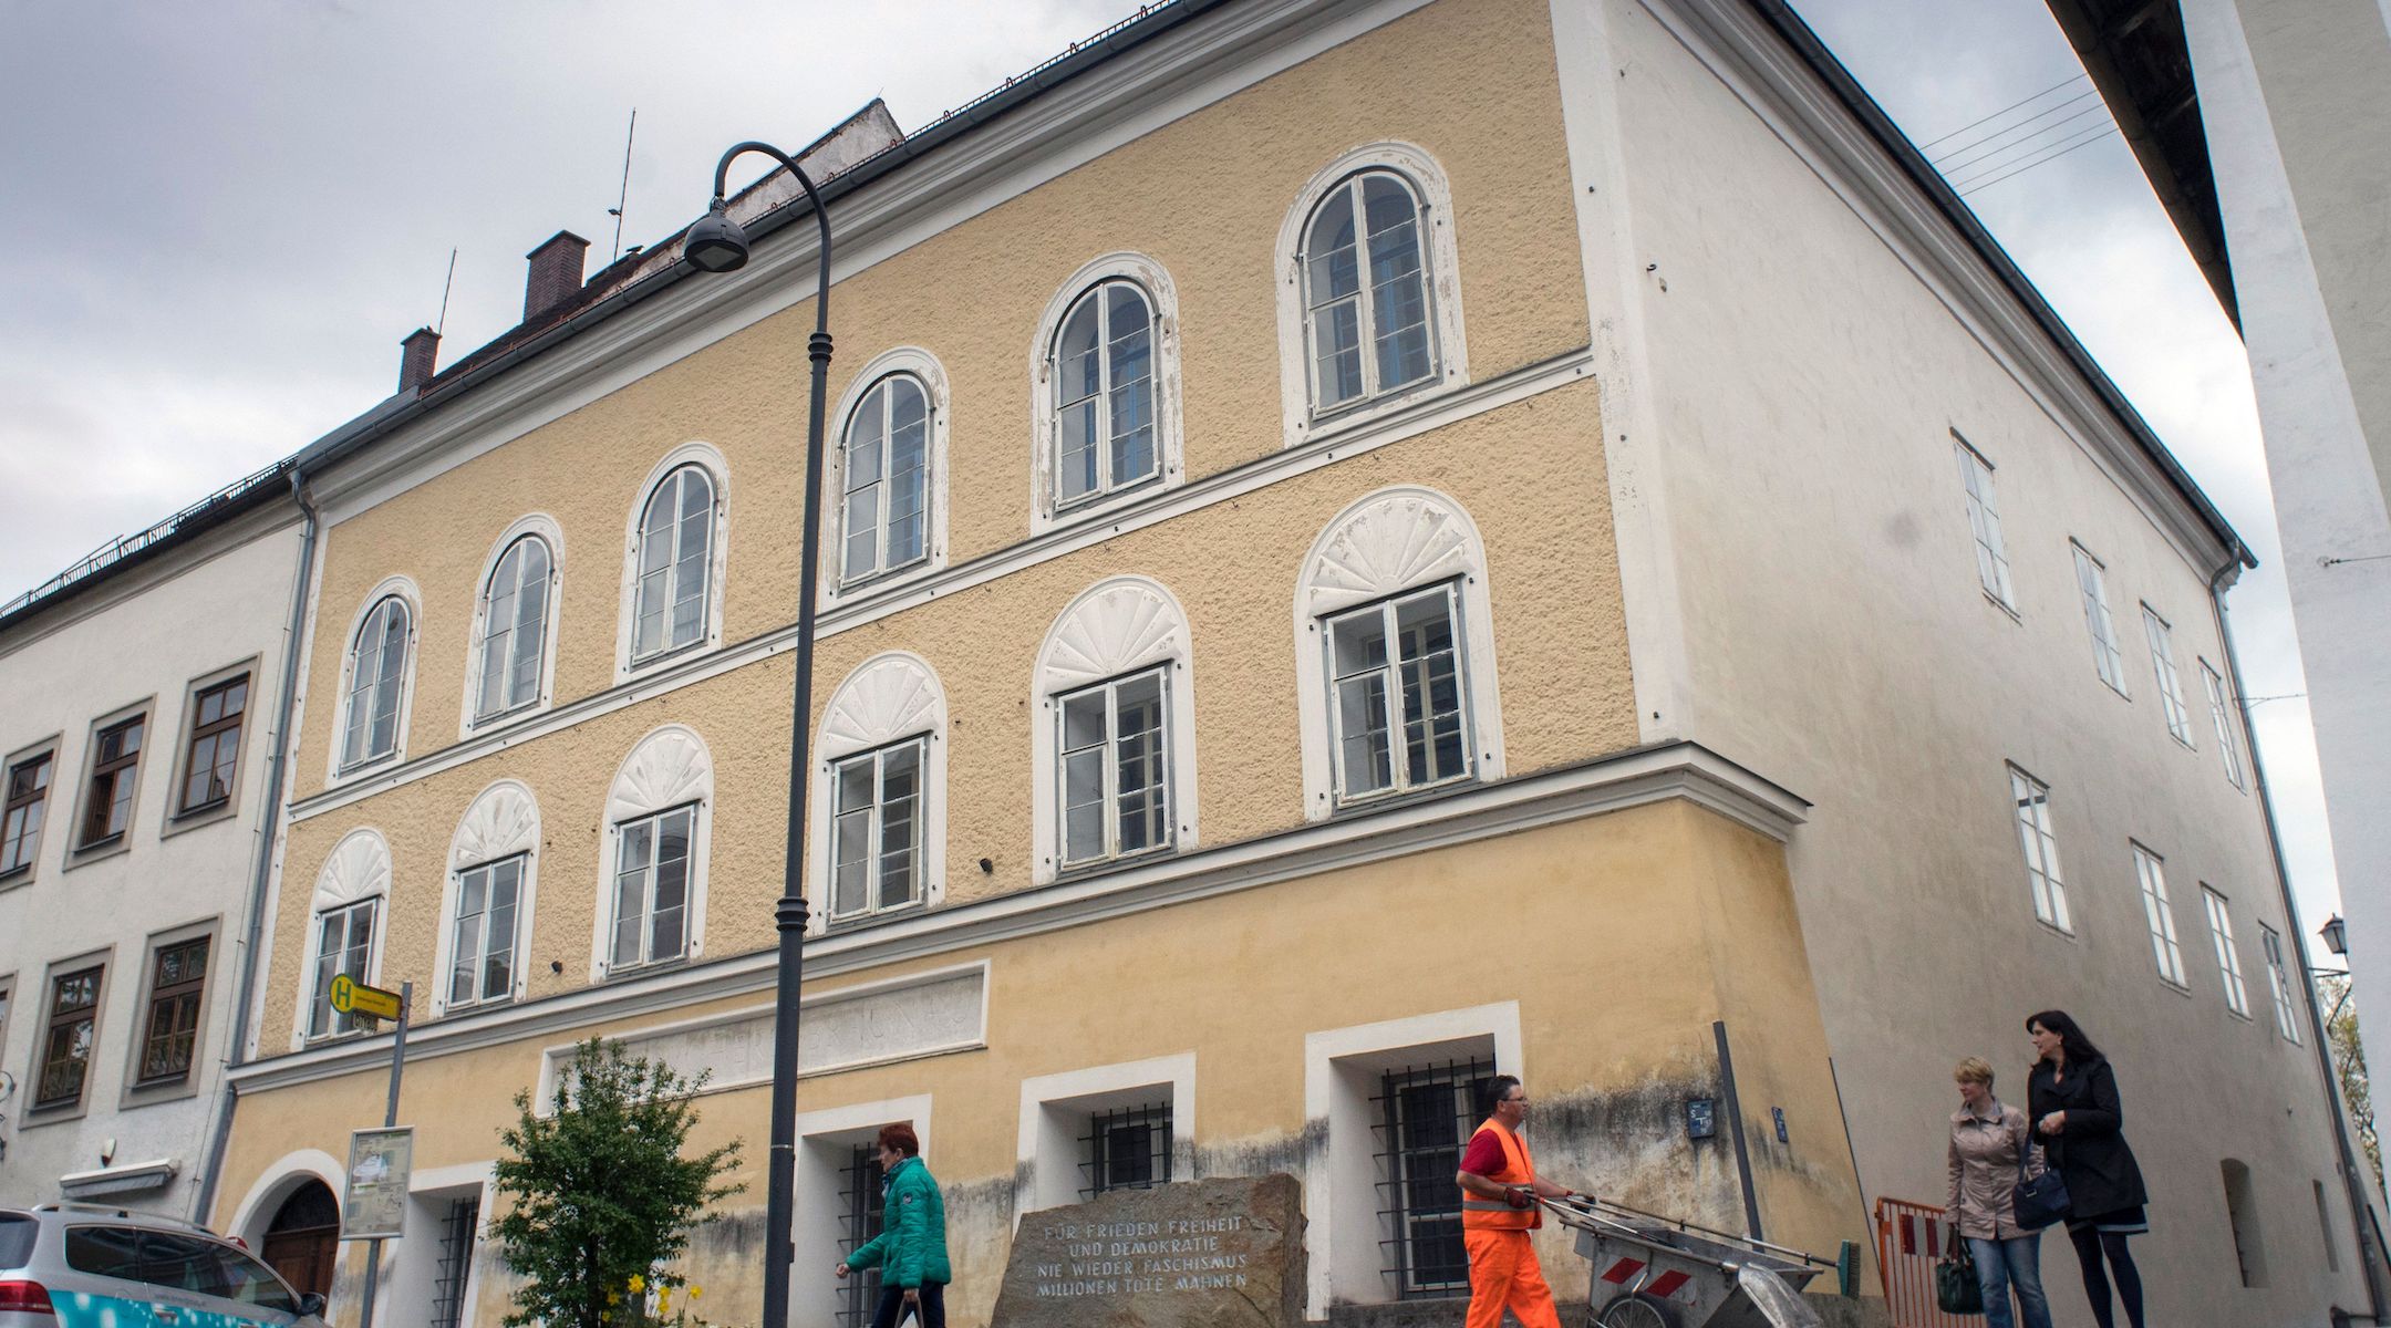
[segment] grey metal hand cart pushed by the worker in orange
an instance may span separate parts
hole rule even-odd
[[[1542,1204],[1595,1266],[1597,1328],[1820,1328],[1800,1290],[1834,1259],[1585,1194]]]

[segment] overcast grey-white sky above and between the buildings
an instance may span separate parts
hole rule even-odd
[[[1918,141],[2080,72],[2040,0],[1796,7]],[[691,220],[732,141],[873,96],[918,129],[1131,10],[0,0],[0,597],[387,396],[452,246],[445,361],[519,320],[557,229],[595,270],[634,105],[624,244]],[[2240,344],[2118,139],[1970,203],[2264,561],[2233,626],[2288,697],[2259,745],[2314,929],[2338,893]]]

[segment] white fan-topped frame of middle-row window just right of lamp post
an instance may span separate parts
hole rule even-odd
[[[889,831],[885,776],[892,757],[904,760],[913,750],[921,776],[911,810],[913,831],[906,836],[916,865],[911,898],[887,900],[880,881]],[[928,662],[892,650],[858,664],[823,707],[813,769],[808,829],[813,886],[806,893],[820,900],[813,912],[815,932],[832,922],[935,908],[947,898],[947,690]],[[842,803],[842,779],[856,793],[868,786],[873,795],[863,803]],[[861,855],[861,898],[858,881],[839,874],[842,831],[858,834],[873,846],[873,853]]]

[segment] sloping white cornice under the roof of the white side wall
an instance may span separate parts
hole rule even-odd
[[[1985,351],[2209,576],[2226,549],[2099,389],[1748,0],[1640,0],[1762,124],[1834,189]]]

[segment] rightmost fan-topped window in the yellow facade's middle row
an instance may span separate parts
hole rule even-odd
[[[1363,497],[1296,585],[1303,814],[1499,779],[1502,700],[1485,542],[1423,487]]]

